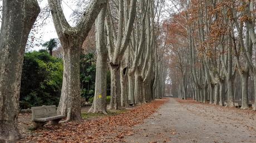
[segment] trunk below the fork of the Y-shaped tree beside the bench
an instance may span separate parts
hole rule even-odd
[[[67,115],[67,120],[81,120],[80,91],[80,45],[74,40],[63,44],[63,81],[57,113]]]

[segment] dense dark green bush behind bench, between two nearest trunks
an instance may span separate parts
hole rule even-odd
[[[20,107],[58,105],[62,86],[62,59],[51,57],[47,50],[24,55]]]

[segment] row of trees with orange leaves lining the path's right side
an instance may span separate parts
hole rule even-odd
[[[227,101],[229,107],[241,99],[242,109],[250,101],[256,105],[255,1],[171,2],[176,12],[165,32],[173,33],[172,93],[216,105]]]

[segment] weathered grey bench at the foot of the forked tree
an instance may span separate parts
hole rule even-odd
[[[51,121],[52,125],[57,125],[65,117],[65,115],[57,115],[55,105],[32,107],[31,111],[35,129],[43,127],[47,121]]]

